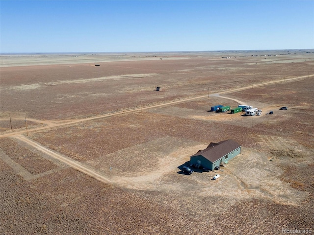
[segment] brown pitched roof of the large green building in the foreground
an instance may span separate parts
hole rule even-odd
[[[210,143],[206,149],[199,150],[191,157],[203,156],[210,162],[214,163],[239,147],[241,147],[241,145],[233,140],[220,141],[219,143]]]

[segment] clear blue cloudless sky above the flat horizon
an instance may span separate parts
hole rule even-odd
[[[0,52],[314,48],[314,0],[1,0]]]

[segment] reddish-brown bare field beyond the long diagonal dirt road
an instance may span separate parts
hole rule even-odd
[[[100,66],[2,67],[0,111],[6,121],[0,126],[10,128],[9,115],[51,120],[90,117],[314,73],[313,53],[279,53],[266,57],[244,53],[230,59],[217,53],[182,53],[179,59],[167,55],[162,60],[99,62]],[[304,61],[295,63],[300,57]],[[271,63],[287,60],[290,63]]]

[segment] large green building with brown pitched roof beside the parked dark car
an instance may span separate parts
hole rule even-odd
[[[240,154],[241,145],[233,140],[210,143],[204,150],[199,150],[190,157],[190,164],[196,168],[213,170],[216,166],[228,162]]]

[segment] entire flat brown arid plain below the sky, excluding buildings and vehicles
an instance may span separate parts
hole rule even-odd
[[[313,49],[3,54],[0,72],[1,234],[314,233]],[[229,139],[224,167],[181,173]]]

